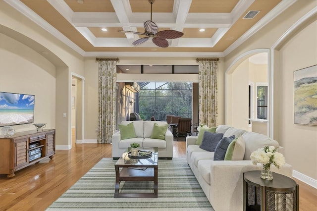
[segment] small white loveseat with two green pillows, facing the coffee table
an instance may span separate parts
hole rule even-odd
[[[127,125],[133,122],[136,138],[121,140],[120,131],[117,131],[112,135],[112,158],[120,158],[122,154],[130,147],[130,144],[137,142],[140,147],[158,147],[159,158],[173,158],[173,134],[166,130],[165,140],[152,139],[151,135],[153,132],[154,123],[158,125],[167,124],[164,121],[122,121],[121,124]]]

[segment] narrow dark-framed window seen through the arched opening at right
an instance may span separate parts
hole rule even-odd
[[[258,93],[258,119],[267,119],[267,85],[257,86]]]

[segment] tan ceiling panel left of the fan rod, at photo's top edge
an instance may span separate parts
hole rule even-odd
[[[110,0],[84,0],[78,3],[77,0],[64,0],[74,12],[114,12]]]

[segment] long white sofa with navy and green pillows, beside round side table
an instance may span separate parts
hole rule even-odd
[[[195,145],[197,137],[191,136],[186,138],[187,162],[215,211],[243,211],[243,173],[262,169],[260,164],[252,164],[251,153],[269,145],[283,154],[283,148],[265,135],[227,125],[219,125],[216,133],[223,133],[223,137],[241,134],[245,141],[243,160],[213,160],[214,152]],[[292,178],[292,166],[287,163],[279,169],[273,165],[271,170]]]

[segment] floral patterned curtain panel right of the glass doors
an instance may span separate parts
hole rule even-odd
[[[199,64],[199,124],[215,127],[218,118],[217,61],[214,59],[198,59],[197,61]]]

